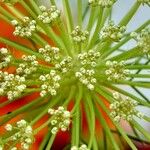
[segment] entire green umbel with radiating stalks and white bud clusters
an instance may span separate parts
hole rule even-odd
[[[50,0],[50,7],[34,0],[1,2],[9,11],[0,6],[0,18],[14,26],[14,36],[28,40],[32,47],[0,37],[6,45],[0,49],[0,96],[8,98],[0,108],[35,92],[39,97],[0,116],[0,125],[5,125],[8,132],[0,133],[0,150],[28,150],[36,141],[35,135],[46,127],[48,133],[40,150],[55,149],[53,143],[59,132],[70,134],[67,150],[121,150],[125,149],[122,138],[132,150],[137,150],[135,141],[150,144],[150,133],[137,121],[140,118],[150,122],[150,117],[138,110],[140,106],[150,107],[149,99],[139,90],[150,89],[150,75],[142,72],[150,71],[149,57],[145,57],[150,54],[150,21],[131,33],[126,30],[138,8],[150,5],[149,0],[135,1],[118,24],[112,18],[117,0],[87,0],[90,14],[84,10],[83,1],[77,0],[76,23],[68,0],[62,0],[63,10],[55,0]],[[15,3],[29,16],[24,16]],[[123,50],[122,46],[131,39],[136,46]],[[16,57],[11,48],[21,51],[22,57]],[[145,64],[143,59],[147,60]],[[15,71],[10,73],[7,69],[12,66]],[[120,85],[133,88],[136,94]],[[8,123],[20,114],[22,119],[16,124]],[[45,115],[47,120],[34,128]],[[133,135],[126,133],[122,121],[131,127]],[[97,122],[102,126],[101,132]],[[82,132],[84,128],[87,137]],[[121,138],[117,140],[116,135]]]

